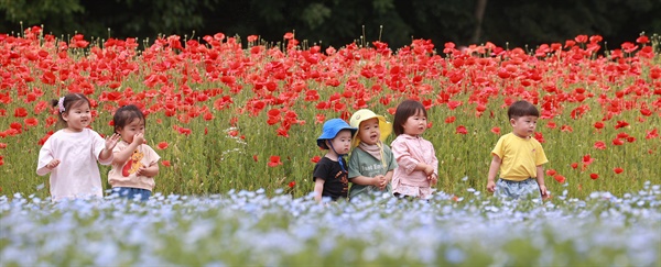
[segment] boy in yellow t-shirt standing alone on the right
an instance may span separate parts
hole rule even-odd
[[[512,199],[528,194],[534,199],[545,199],[548,192],[542,164],[549,160],[540,142],[531,137],[540,113],[534,105],[521,100],[509,107],[507,115],[512,132],[501,136],[491,151],[494,159],[489,168],[487,190]],[[500,179],[494,182],[499,169]]]

